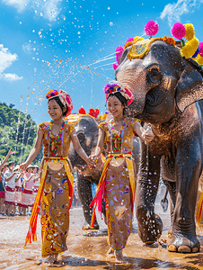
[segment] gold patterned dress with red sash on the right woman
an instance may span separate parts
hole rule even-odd
[[[109,245],[120,250],[127,244],[132,228],[135,199],[135,175],[131,151],[133,125],[137,119],[124,119],[121,130],[114,130],[113,121],[105,121],[100,128],[105,132],[108,156],[105,161],[98,190],[91,206],[102,211],[102,198],[106,205]]]

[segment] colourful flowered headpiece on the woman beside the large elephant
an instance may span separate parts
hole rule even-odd
[[[131,91],[125,85],[122,85],[118,81],[111,81],[109,84],[104,87],[104,94],[106,95],[106,100],[108,100],[110,94],[115,94],[119,92],[127,100],[128,105],[133,102],[134,96]]]

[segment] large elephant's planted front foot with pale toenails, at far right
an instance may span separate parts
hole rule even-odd
[[[189,239],[177,234],[176,238],[174,236],[171,237],[167,249],[177,253],[196,253],[199,252],[200,243],[196,237]]]

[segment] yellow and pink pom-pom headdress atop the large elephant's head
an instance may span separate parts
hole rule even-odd
[[[146,35],[149,36],[148,39],[138,36],[135,36],[134,38],[131,37],[126,41],[124,47],[117,47],[115,50],[117,63],[113,63],[113,69],[116,70],[117,67],[119,67],[120,58],[125,49],[131,46],[128,51],[128,59],[143,58],[148,53],[151,44],[156,40],[163,40],[176,46],[178,49],[181,47],[180,52],[182,57],[187,59],[192,58],[193,60],[196,60],[199,65],[203,65],[203,42],[199,42],[195,37],[194,26],[191,23],[185,23],[184,25],[182,23],[173,24],[171,29],[172,36],[177,40],[181,40],[181,42],[166,36],[163,38],[153,38],[158,32],[158,29],[158,23],[149,21],[145,26]]]

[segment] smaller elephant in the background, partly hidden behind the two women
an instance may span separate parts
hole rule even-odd
[[[80,115],[80,121],[75,124],[77,137],[88,156],[93,152],[97,145],[99,135],[98,124],[100,122],[101,120],[87,114]],[[140,159],[139,140],[137,138],[134,139],[133,146],[132,155],[134,157],[135,175],[137,175]],[[103,151],[103,155],[105,156],[105,151]],[[90,225],[93,212],[90,208],[90,203],[93,201],[92,184],[99,184],[103,168],[102,158],[99,158],[95,168],[89,168],[85,164],[84,159],[76,153],[73,144],[70,145],[68,156],[72,166],[75,167],[77,171],[77,192],[83,207],[85,220],[83,229],[91,229]],[[105,207],[103,207],[102,213],[105,220]],[[99,229],[97,220],[94,222],[93,229]]]

